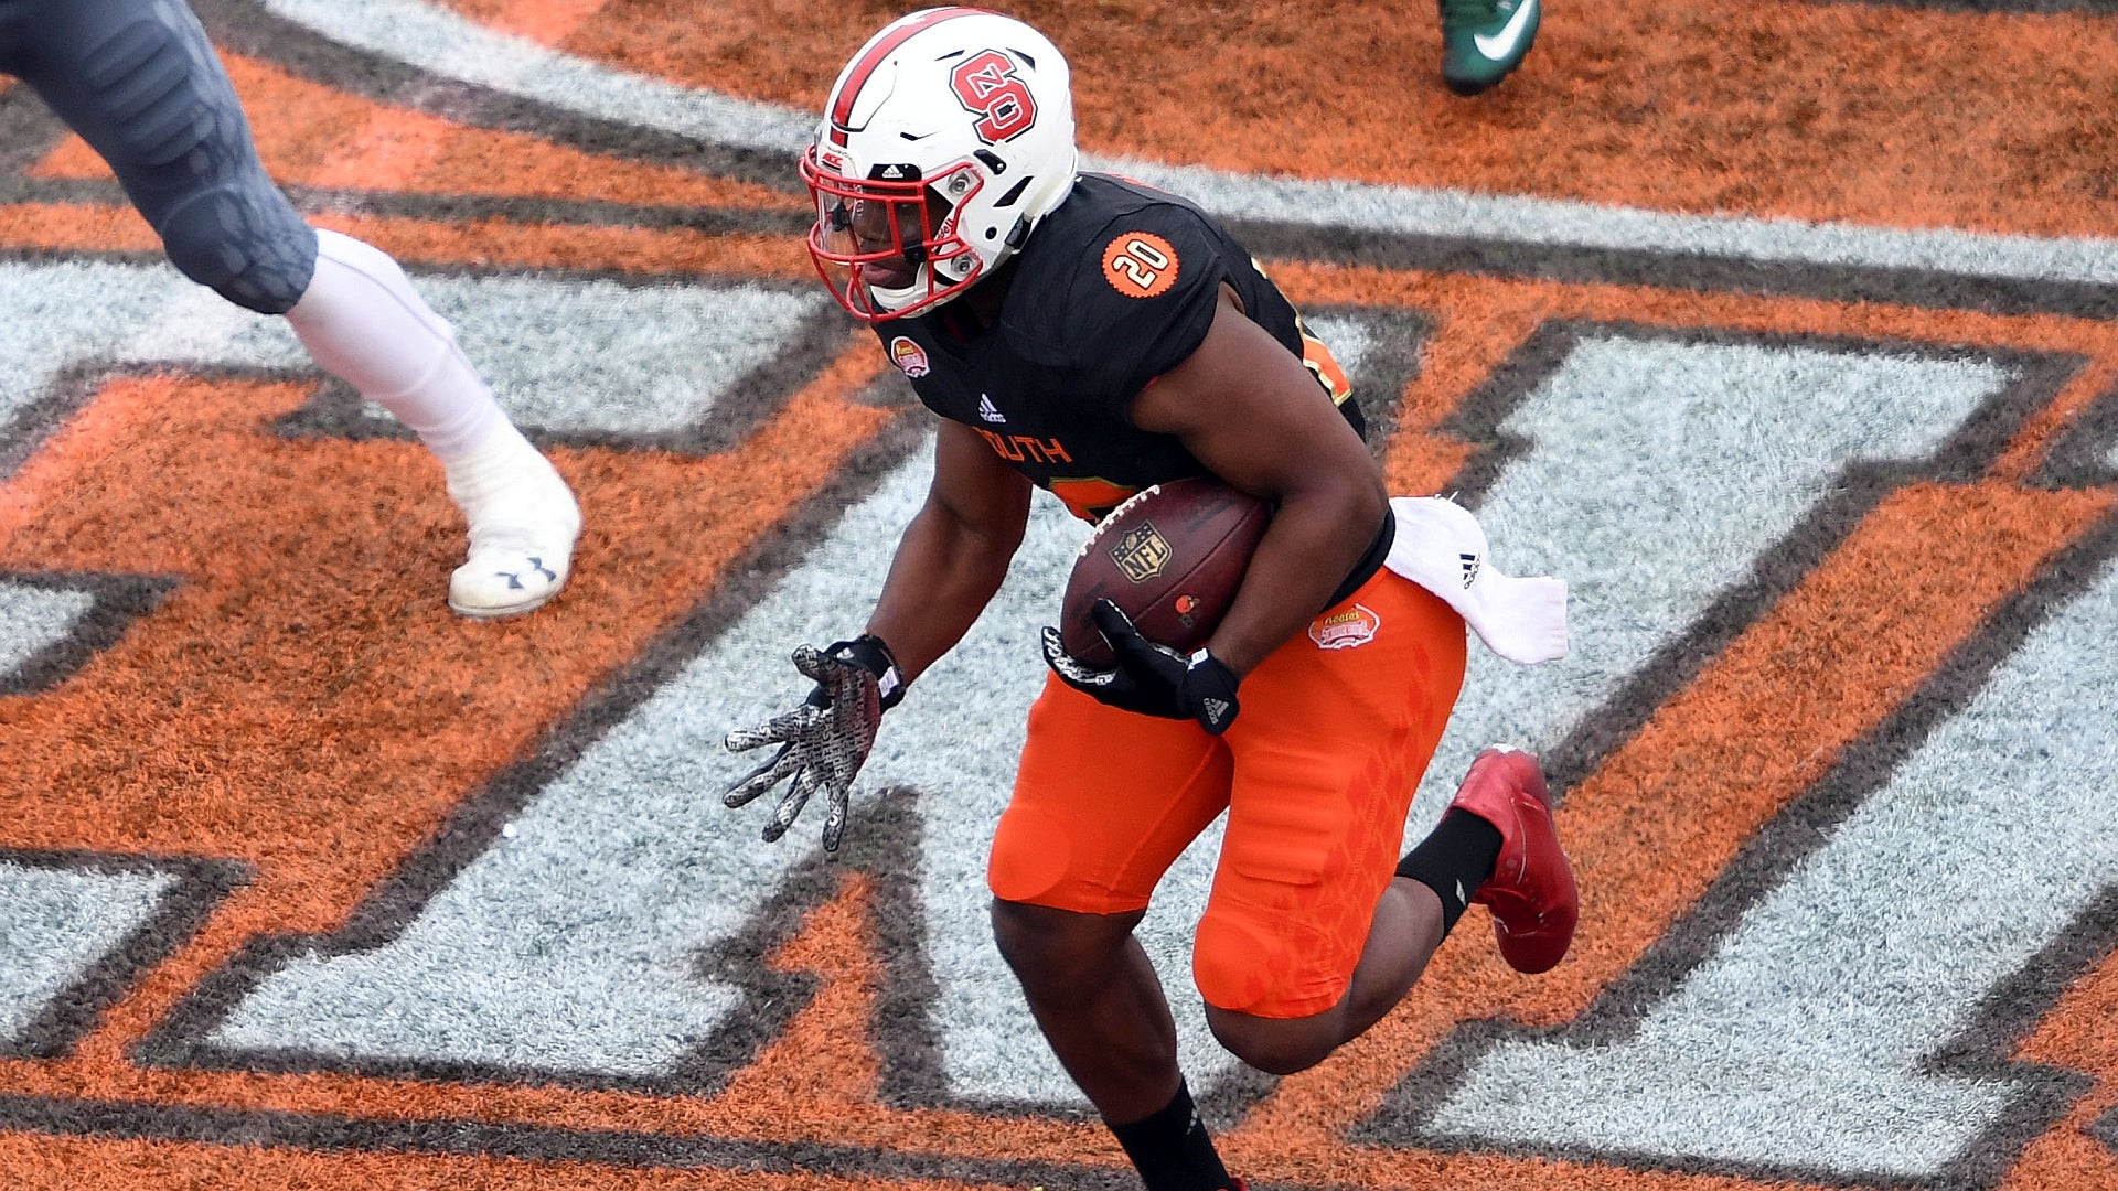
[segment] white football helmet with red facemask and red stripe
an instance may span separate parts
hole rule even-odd
[[[983,8],[885,25],[830,89],[801,176],[809,256],[854,318],[932,309],[989,278],[1074,189],[1065,57]]]

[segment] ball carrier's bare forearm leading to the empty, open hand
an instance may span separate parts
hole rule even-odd
[[[934,483],[898,540],[866,629],[890,642],[907,682],[964,640],[1000,589],[1023,545],[1029,492],[974,430],[940,424]]]

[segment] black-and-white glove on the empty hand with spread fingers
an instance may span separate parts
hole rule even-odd
[[[815,689],[792,712],[729,733],[729,752],[748,752],[762,744],[779,744],[779,752],[758,765],[722,795],[739,807],[794,778],[788,793],[765,822],[765,841],[786,835],[809,795],[824,790],[830,812],[824,814],[824,850],[837,852],[845,837],[847,803],[854,776],[875,746],[875,729],[883,712],[904,697],[904,682],[881,638],[841,640],[828,651],[805,644],[794,651],[794,668],[815,678]]]

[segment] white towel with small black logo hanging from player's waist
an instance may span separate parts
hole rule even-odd
[[[1487,648],[1533,665],[1567,655],[1567,583],[1512,579],[1487,557],[1485,528],[1444,496],[1398,496],[1398,536],[1383,562],[1464,615]]]

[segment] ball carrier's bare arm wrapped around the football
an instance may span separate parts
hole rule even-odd
[[[1207,651],[1248,674],[1324,608],[1389,506],[1366,443],[1224,286],[1199,350],[1133,401],[1133,424],[1175,434],[1211,473],[1277,502]]]

